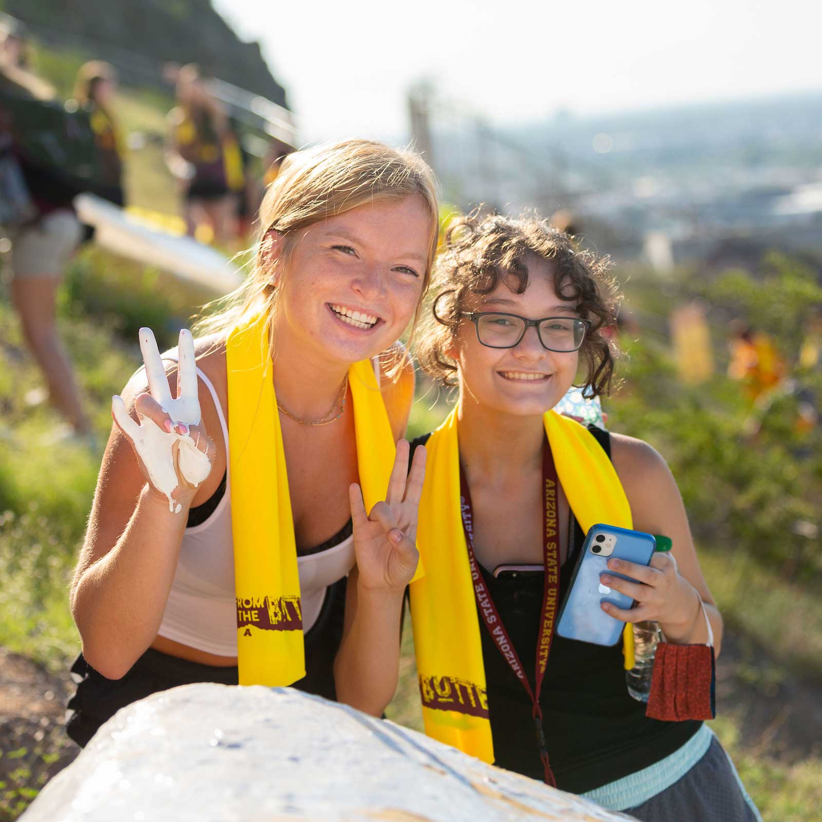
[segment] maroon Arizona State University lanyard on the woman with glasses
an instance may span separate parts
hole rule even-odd
[[[539,746],[539,758],[543,761],[545,770],[545,782],[552,787],[556,787],[556,779],[548,763],[548,751],[545,744],[545,732],[543,731],[543,710],[539,707],[539,692],[543,687],[543,677],[548,663],[548,653],[551,651],[551,643],[554,638],[554,625],[556,617],[556,606],[559,599],[559,528],[556,520],[556,488],[559,480],[556,477],[556,466],[551,453],[551,448],[545,446],[543,449],[543,520],[545,522],[543,565],[545,568],[545,584],[543,588],[543,610],[540,617],[540,633],[537,643],[537,658],[535,663],[534,681],[536,694],[531,690],[528,677],[525,676],[524,667],[520,663],[520,658],[511,642],[506,626],[503,624],[496,605],[491,598],[482,572],[477,564],[477,557],[473,553],[473,509],[471,507],[471,493],[469,492],[468,481],[465,478],[462,466],[459,467],[459,492],[462,502],[462,520],[465,531],[465,543],[468,546],[469,565],[471,567],[471,579],[473,580],[473,593],[477,598],[479,612],[483,617],[488,633],[491,635],[496,648],[505,658],[511,670],[520,680],[524,689],[528,692],[533,705],[533,724],[537,734],[537,744]]]

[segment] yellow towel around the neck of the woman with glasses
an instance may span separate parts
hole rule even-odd
[[[547,412],[544,420],[557,476],[583,531],[597,523],[632,528],[625,491],[593,434],[555,411]],[[425,732],[492,763],[481,628],[460,507],[456,409],[432,433],[426,450],[417,529],[425,575],[410,588]],[[624,636],[625,665],[630,668],[634,666],[630,625]]]

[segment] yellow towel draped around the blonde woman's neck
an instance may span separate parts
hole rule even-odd
[[[305,676],[297,546],[265,316],[226,344],[237,654],[240,685]],[[349,368],[359,483],[366,510],[386,498],[396,448],[370,360]]]

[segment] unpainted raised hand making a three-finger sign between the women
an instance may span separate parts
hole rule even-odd
[[[366,515],[357,483],[349,487],[359,584],[370,590],[404,589],[417,570],[417,511],[425,479],[425,448],[419,446],[407,472],[409,444],[397,443],[386,501]]]

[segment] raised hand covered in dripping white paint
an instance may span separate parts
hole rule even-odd
[[[150,328],[140,330],[140,349],[149,384],[149,391],[139,395],[134,404],[140,423],[129,416],[119,395],[112,399],[112,414],[132,442],[145,478],[166,496],[169,510],[179,513],[182,505],[178,499],[193,497],[193,489],[208,477],[215,458],[214,443],[201,427],[194,339],[191,331],[180,331],[176,399],[169,391]]]

